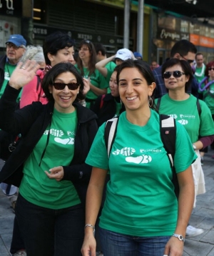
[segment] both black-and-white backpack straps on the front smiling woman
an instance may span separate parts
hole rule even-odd
[[[106,149],[108,152],[108,157],[110,155],[114,139],[116,137],[117,126],[118,126],[118,117],[114,117],[106,122],[104,139],[106,144]],[[170,161],[170,167],[173,172],[173,185],[175,190],[175,195],[178,198],[179,195],[179,185],[178,177],[175,172],[174,167],[174,156],[175,156],[175,142],[176,142],[176,123],[173,117],[169,117],[165,114],[160,114],[160,132],[161,140],[163,142],[163,147],[168,154],[168,159]]]

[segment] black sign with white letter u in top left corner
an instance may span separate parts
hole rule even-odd
[[[0,0],[0,14],[8,16],[21,16],[21,0]]]

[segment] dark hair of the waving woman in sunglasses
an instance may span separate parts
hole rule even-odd
[[[46,73],[42,81],[41,87],[44,90],[48,101],[54,102],[54,97],[49,92],[49,85],[53,84],[56,77],[64,72],[71,72],[76,77],[76,81],[78,82],[78,84],[80,84],[79,93],[77,94],[74,102],[79,102],[82,99],[85,99],[85,96],[83,95],[84,84],[81,74],[78,73],[76,67],[74,67],[73,64],[71,64],[70,62],[61,62],[54,65],[54,67],[52,67],[52,69],[50,69],[49,72]]]

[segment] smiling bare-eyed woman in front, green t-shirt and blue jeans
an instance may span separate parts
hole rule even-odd
[[[91,251],[95,255],[93,226],[109,169],[110,181],[99,228],[103,255],[163,256],[176,252],[181,256],[194,200],[192,144],[185,129],[177,123],[174,157],[180,187],[177,201],[170,162],[161,141],[160,117],[150,108],[156,87],[150,67],[144,61],[124,61],[117,82],[126,112],[118,119],[109,159],[105,124],[98,129],[86,159],[93,169],[87,191],[82,254],[86,256]],[[185,156],[183,148],[187,149]]]

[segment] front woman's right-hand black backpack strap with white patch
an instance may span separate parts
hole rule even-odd
[[[163,147],[168,154],[168,158],[170,160],[170,166],[173,172],[173,185],[175,195],[178,198],[179,196],[179,184],[178,184],[178,177],[175,172],[174,166],[174,157],[175,157],[175,144],[176,144],[176,123],[173,117],[169,117],[165,114],[160,115],[160,122],[161,122],[161,139],[163,142]]]

